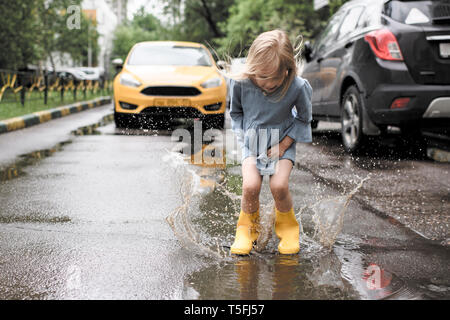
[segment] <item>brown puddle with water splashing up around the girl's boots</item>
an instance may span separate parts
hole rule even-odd
[[[352,197],[370,176],[359,179],[346,195],[322,199],[297,212],[302,226],[299,255],[278,254],[273,201],[261,201],[257,245],[248,256],[233,256],[229,247],[241,200],[239,176],[228,172],[236,171],[234,166],[216,170],[224,174],[222,182],[211,172],[207,178],[215,187],[203,192],[201,166],[179,153],[169,153],[165,160],[184,177],[183,204],[167,221],[183,247],[199,259],[211,259],[208,267],[185,279],[184,299],[427,299],[448,294],[445,285],[433,287],[433,294],[383,269],[364,253],[373,250],[370,241],[340,234]],[[303,215],[307,211],[309,220]]]

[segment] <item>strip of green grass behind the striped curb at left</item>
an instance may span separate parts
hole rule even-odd
[[[47,104],[44,104],[44,93],[32,92],[31,95],[28,93],[25,95],[25,105],[22,106],[19,95],[14,96],[12,93],[5,92],[2,101],[0,101],[0,120],[48,110],[74,102],[92,100],[105,95],[108,95],[106,90],[104,92],[99,90],[97,93],[86,92],[86,97],[84,97],[83,92],[77,92],[77,98],[74,99],[72,92],[66,92],[64,100],[61,101],[59,92],[49,92]]]

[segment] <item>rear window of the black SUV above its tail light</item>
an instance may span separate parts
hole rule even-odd
[[[450,1],[389,1],[384,5],[385,15],[406,24],[450,24]]]

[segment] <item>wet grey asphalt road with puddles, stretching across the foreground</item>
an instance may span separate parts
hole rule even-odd
[[[172,131],[117,129],[111,113],[98,107],[0,136],[0,298],[450,298],[449,250],[440,242],[448,227],[432,241],[393,219],[388,202],[377,206],[370,188],[385,178],[377,176],[382,168],[372,168],[375,178],[350,201],[331,251],[302,240],[299,256],[280,256],[272,236],[261,252],[230,257],[239,192],[224,182],[239,181],[240,166],[180,161]],[[333,135],[319,130],[317,144],[298,148],[314,155],[300,156],[291,176],[305,239],[310,208],[367,174],[336,151]],[[424,159],[380,161],[448,172]],[[267,180],[261,204],[269,212]],[[448,202],[430,207],[445,216]],[[180,210],[175,222],[184,227],[174,232],[166,218]]]

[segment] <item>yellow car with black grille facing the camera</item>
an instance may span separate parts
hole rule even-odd
[[[144,127],[191,118],[203,128],[223,128],[226,95],[226,80],[204,45],[140,42],[114,79],[114,120]]]

